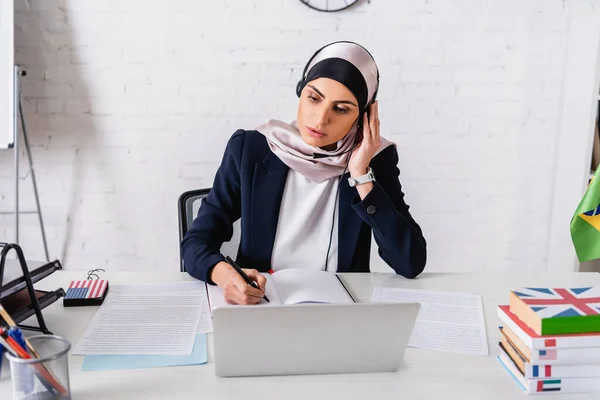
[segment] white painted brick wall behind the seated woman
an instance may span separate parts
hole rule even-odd
[[[210,186],[235,129],[293,118],[308,57],[348,39],[380,65],[382,131],[399,145],[428,269],[544,269],[573,2],[373,1],[322,14],[298,0],[19,1],[51,256],[72,269],[177,269],[179,194]],[[31,209],[29,179],[22,188]],[[0,210],[13,199],[3,151]],[[13,230],[0,216],[0,240]],[[42,257],[34,215],[22,244]]]

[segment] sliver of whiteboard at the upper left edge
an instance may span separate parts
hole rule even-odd
[[[14,0],[0,0],[0,149],[14,142]]]

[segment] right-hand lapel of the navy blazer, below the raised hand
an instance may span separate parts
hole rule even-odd
[[[340,182],[339,222],[338,222],[338,272],[346,272],[352,264],[352,257],[358,241],[362,220],[352,209],[352,200],[358,196],[356,189],[348,184],[346,173]]]

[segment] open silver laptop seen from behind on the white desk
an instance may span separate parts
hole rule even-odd
[[[418,303],[302,303],[213,311],[221,377],[394,372]]]

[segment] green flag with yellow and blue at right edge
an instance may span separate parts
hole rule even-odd
[[[600,258],[600,168],[571,219],[571,239],[580,262]]]

